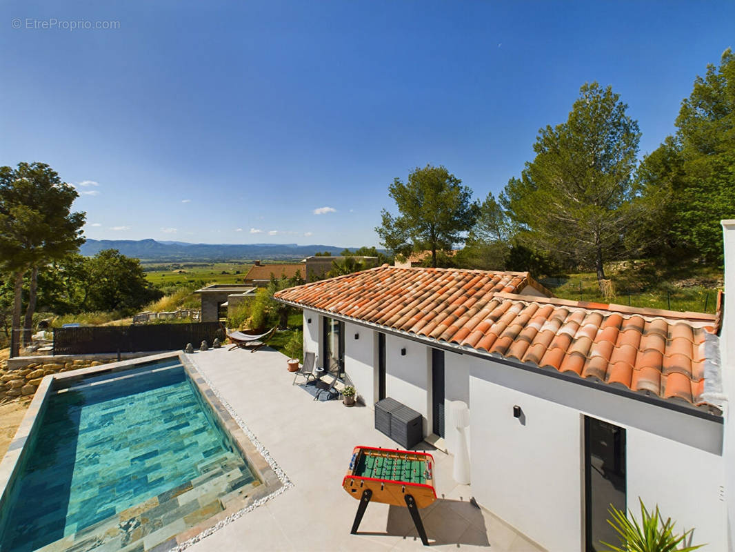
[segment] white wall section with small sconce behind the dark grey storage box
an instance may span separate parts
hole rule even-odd
[[[406,348],[406,355],[401,349]],[[426,345],[385,336],[385,396],[398,400],[423,416],[423,434],[429,432],[429,367],[431,350]]]

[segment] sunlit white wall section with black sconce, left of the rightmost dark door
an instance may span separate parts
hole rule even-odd
[[[470,378],[476,500],[550,551],[581,543],[581,419],[548,400]],[[513,417],[520,405],[526,425]]]

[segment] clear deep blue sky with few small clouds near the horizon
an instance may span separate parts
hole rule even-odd
[[[620,93],[652,151],[695,76],[735,46],[733,1],[67,0],[0,14],[0,164],[49,163],[98,239],[377,245],[394,177],[443,164],[476,197],[497,194],[584,82]],[[119,28],[71,29],[97,21]]]

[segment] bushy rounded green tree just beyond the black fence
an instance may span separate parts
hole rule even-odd
[[[101,250],[87,259],[87,279],[82,286],[85,308],[91,311],[132,312],[163,296],[146,280],[140,261],[118,250]]]

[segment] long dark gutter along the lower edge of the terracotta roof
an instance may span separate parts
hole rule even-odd
[[[435,339],[431,339],[431,338],[427,338],[423,336],[417,336],[415,333],[408,333],[402,330],[386,328],[385,326],[381,326],[379,324],[373,324],[373,322],[365,322],[364,320],[354,319],[354,318],[351,318],[350,316],[343,316],[341,314],[337,314],[331,311],[326,311],[322,308],[315,308],[315,307],[300,305],[299,303],[283,300],[283,299],[280,299],[279,297],[273,297],[273,299],[275,299],[278,302],[283,303],[284,305],[289,305],[291,307],[301,308],[301,309],[306,308],[309,311],[315,311],[320,314],[329,316],[330,318],[342,320],[343,322],[350,322],[351,324],[356,324],[356,325],[362,326],[363,328],[370,328],[372,330],[378,330],[378,331],[381,331],[382,333],[388,333],[392,336],[409,339],[412,342],[417,342],[417,343],[421,343],[425,345],[429,344],[431,345],[431,347],[434,347],[436,349],[450,351],[451,353],[459,353],[460,355],[470,355],[470,356],[474,356],[477,358],[484,358],[485,360],[492,360],[492,361],[498,362],[499,364],[505,364],[506,366],[509,366],[509,367],[519,368],[522,370],[526,370],[527,372],[534,372],[534,374],[545,375],[549,378],[556,378],[559,380],[568,381],[570,383],[589,387],[592,389],[598,389],[599,391],[602,391],[602,392],[612,393],[620,397],[627,397],[629,399],[638,400],[642,403],[647,403],[653,406],[660,406],[661,408],[667,408],[668,410],[680,412],[681,414],[689,414],[690,416],[701,418],[703,420],[709,420],[711,422],[717,422],[720,424],[724,422],[721,414],[714,414],[714,411],[719,411],[719,409],[715,406],[706,406],[706,407],[698,407],[695,405],[688,406],[687,404],[684,404],[684,403],[678,403],[675,400],[662,399],[661,397],[651,394],[648,391],[647,392],[637,392],[637,391],[628,389],[627,387],[612,386],[609,383],[604,383],[603,381],[598,381],[596,379],[581,378],[580,376],[576,374],[570,375],[570,374],[567,374],[567,372],[559,372],[559,370],[557,369],[543,369],[542,367],[539,367],[537,364],[514,361],[512,359],[505,358],[504,356],[499,355],[498,353],[483,353],[482,351],[473,349],[472,347],[462,347],[461,345],[458,345],[458,344],[440,342]]]

